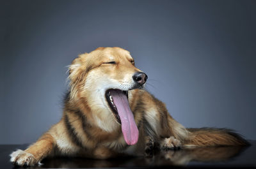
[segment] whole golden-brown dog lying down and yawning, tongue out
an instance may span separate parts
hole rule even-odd
[[[147,75],[119,47],[99,47],[68,67],[63,116],[28,149],[10,154],[19,166],[49,156],[108,159],[147,156],[153,149],[248,145],[230,129],[185,128],[145,91]]]

